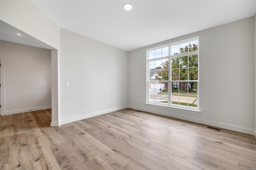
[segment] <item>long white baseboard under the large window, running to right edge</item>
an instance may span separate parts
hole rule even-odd
[[[164,113],[164,112],[160,112],[160,111],[156,111],[156,110],[152,110],[152,109],[145,109],[143,107],[137,107],[137,106],[128,106],[128,108],[136,109],[136,110],[140,110],[140,111],[146,111],[146,112],[150,112],[150,113],[155,113],[158,115],[164,115],[164,116],[168,116],[168,117],[174,117],[174,118],[182,119],[185,121],[201,123],[201,124],[209,125],[209,126],[213,126],[213,127],[219,127],[219,128],[224,128],[224,129],[228,129],[228,130],[234,130],[237,132],[252,134],[256,137],[256,131],[253,128],[240,127],[237,125],[231,125],[231,124],[227,124],[227,123],[210,121],[210,120],[206,120],[206,119],[198,119],[198,118],[194,118],[194,117],[186,117],[186,116],[176,115],[176,114],[172,114],[172,113]]]

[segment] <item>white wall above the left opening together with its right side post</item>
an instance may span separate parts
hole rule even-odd
[[[51,126],[60,125],[60,28],[30,1],[1,0],[0,19],[56,49],[52,51]]]

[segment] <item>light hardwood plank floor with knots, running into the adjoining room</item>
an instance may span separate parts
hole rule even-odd
[[[256,138],[133,109],[50,127],[51,110],[0,116],[0,170],[252,170]]]

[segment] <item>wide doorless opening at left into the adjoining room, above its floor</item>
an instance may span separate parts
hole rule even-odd
[[[0,27],[2,62],[0,67],[0,115],[43,110],[51,115],[49,126],[59,126],[58,50],[2,20],[0,20]],[[5,53],[8,50],[6,45],[14,47],[14,50],[8,55]],[[21,55],[19,50],[23,50],[25,53],[39,51],[37,55],[47,53],[48,59],[44,57],[36,58],[32,53],[31,56],[24,54],[23,61],[19,58],[20,61],[18,62],[20,63],[12,61],[12,59],[17,59],[14,55]],[[12,58],[10,54],[12,54]],[[13,67],[12,64],[16,64],[17,67]],[[40,72],[40,70],[43,70],[43,72]],[[43,80],[38,83],[40,79]],[[12,86],[16,88],[16,93],[11,89]],[[18,89],[19,86],[20,89]],[[19,102],[17,102],[18,95],[22,96],[22,98],[19,98]],[[35,95],[38,97],[35,97]],[[39,102],[43,104],[40,105]]]

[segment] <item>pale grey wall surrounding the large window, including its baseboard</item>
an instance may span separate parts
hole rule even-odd
[[[252,134],[254,31],[254,17],[250,17],[129,51],[130,107]],[[196,36],[200,43],[201,112],[142,103],[146,101],[146,49]]]

